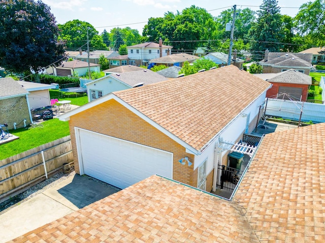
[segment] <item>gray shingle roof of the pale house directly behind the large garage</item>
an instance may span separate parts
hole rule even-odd
[[[110,76],[120,80],[121,82],[131,87],[134,87],[135,85],[140,83],[144,83],[144,85],[149,85],[168,79],[167,77],[164,77],[163,75],[155,73],[149,69],[110,74]]]

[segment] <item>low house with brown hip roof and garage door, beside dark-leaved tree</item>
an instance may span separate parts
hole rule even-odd
[[[89,63],[90,71],[101,72],[101,65]],[[62,62],[61,65],[54,67],[55,76],[73,76],[78,73],[78,76],[84,76],[88,72],[88,62],[73,60],[70,62]]]

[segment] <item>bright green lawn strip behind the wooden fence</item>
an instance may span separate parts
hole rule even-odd
[[[54,118],[41,124],[43,126],[9,130],[9,133],[18,136],[19,139],[0,145],[0,159],[70,135],[68,121],[60,121],[58,118]]]

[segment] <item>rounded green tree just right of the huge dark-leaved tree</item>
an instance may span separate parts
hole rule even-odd
[[[98,35],[98,31],[91,24],[78,19],[58,24],[58,27],[61,30],[59,38],[66,41],[67,48],[74,50],[87,47],[87,29],[89,41]]]

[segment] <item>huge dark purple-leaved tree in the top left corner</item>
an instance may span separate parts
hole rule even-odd
[[[64,43],[50,8],[41,1],[0,1],[0,66],[13,72],[34,71],[61,64]]]

